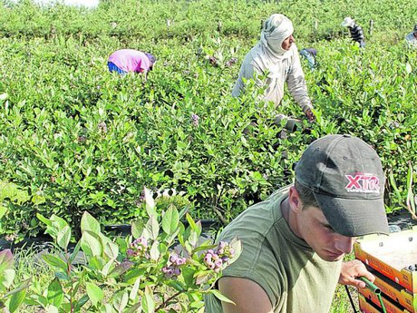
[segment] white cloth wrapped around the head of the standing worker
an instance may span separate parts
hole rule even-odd
[[[293,33],[293,23],[288,17],[271,15],[262,27],[260,38],[262,50],[272,58],[281,59],[287,53],[282,48],[282,43]]]

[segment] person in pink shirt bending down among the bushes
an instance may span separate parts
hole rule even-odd
[[[148,72],[152,70],[155,62],[155,56],[152,54],[142,53],[133,49],[121,49],[109,56],[107,66],[110,72],[121,74],[129,72],[144,73],[146,80]]]

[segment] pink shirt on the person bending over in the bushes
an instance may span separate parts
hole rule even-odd
[[[117,50],[109,57],[117,67],[125,72],[148,72],[150,69],[150,59],[146,54],[133,49]]]

